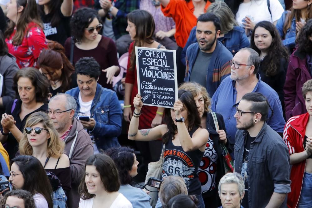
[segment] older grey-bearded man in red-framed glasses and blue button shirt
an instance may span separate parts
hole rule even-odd
[[[228,139],[234,145],[236,133],[236,106],[246,93],[259,92],[263,94],[271,105],[267,117],[267,124],[282,135],[285,126],[282,106],[277,93],[269,85],[261,81],[258,73],[260,65],[259,54],[251,48],[242,48],[232,60],[231,76],[226,77],[212,96],[211,109],[222,114]],[[233,153],[231,154],[232,156]]]

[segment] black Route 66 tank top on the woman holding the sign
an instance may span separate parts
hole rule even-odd
[[[198,127],[194,127],[189,132],[191,138],[197,129]],[[170,138],[163,152],[162,177],[180,175],[183,177],[185,185],[188,188],[188,195],[201,194],[201,183],[197,175],[197,170],[203,154],[204,152],[198,149],[184,152],[182,146],[174,146],[172,138]]]

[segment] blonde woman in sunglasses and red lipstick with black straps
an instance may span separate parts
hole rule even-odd
[[[69,159],[64,154],[64,143],[48,114],[33,113],[28,117],[24,129],[24,137],[19,143],[21,155],[36,157],[46,171],[54,173],[61,181],[66,192],[71,189],[71,169]]]

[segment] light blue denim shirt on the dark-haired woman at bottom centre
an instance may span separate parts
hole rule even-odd
[[[152,208],[149,204],[151,197],[139,188],[126,184],[121,185],[118,192],[131,202],[133,208]]]

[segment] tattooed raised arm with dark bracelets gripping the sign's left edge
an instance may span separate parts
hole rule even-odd
[[[161,138],[163,134],[167,132],[167,126],[164,124],[156,126],[155,128],[139,130],[139,116],[143,107],[141,95],[136,95],[136,97],[133,99],[133,105],[134,116],[132,116],[130,121],[128,139],[136,141],[153,141]]]

